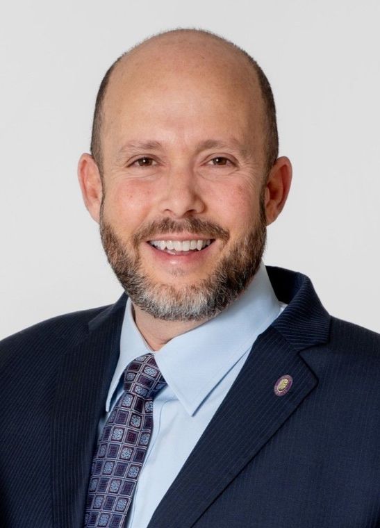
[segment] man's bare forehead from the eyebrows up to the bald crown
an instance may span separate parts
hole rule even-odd
[[[104,100],[104,135],[160,126],[257,129],[263,101],[254,68],[224,42],[199,35],[162,37],[115,67]]]

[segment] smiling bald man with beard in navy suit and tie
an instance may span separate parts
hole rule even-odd
[[[127,295],[1,343],[1,526],[379,526],[379,336],[261,264],[277,152],[267,79],[215,35],[108,71],[79,181]]]

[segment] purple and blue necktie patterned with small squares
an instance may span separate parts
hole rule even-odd
[[[110,413],[92,462],[85,527],[122,528],[153,427],[153,399],[165,386],[152,354],[124,371],[124,393]]]

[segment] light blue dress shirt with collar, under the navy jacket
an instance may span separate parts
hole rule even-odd
[[[127,528],[146,528],[160,500],[181,470],[222,403],[260,333],[285,305],[262,264],[245,292],[222,313],[176,336],[155,352],[167,386],[154,399],[154,429],[140,472]],[[122,393],[122,374],[135,357],[151,352],[126,304],[120,356],[110,384],[106,414]]]

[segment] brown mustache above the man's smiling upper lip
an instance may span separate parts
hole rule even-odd
[[[163,218],[163,220],[154,220],[146,226],[140,227],[133,235],[133,244],[138,245],[141,240],[154,240],[159,235],[167,233],[193,233],[195,235],[206,236],[207,238],[220,238],[226,242],[229,240],[229,231],[221,226],[201,220],[199,218],[185,218],[181,222],[176,222],[172,218]]]

